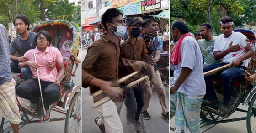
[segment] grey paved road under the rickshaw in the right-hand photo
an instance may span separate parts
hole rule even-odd
[[[246,107],[246,106],[243,106],[242,104],[240,104],[239,108],[247,110],[248,106]],[[247,113],[241,113],[241,112],[236,111],[229,118],[226,118],[226,119],[239,118],[239,117],[241,118],[241,117],[246,117],[246,115],[247,115]],[[221,119],[222,118],[219,118],[218,120],[221,120]],[[174,117],[171,119],[170,122],[171,122],[170,123],[171,127],[174,127]],[[212,126],[213,125],[208,125],[208,126],[201,128],[201,133]],[[175,132],[171,131],[170,133],[175,133]],[[206,131],[204,133],[247,133],[246,120],[217,124],[216,126],[214,126],[213,128],[209,129],[208,131]]]

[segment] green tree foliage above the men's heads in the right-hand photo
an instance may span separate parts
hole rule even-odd
[[[213,34],[221,34],[219,19],[223,16],[231,16],[235,27],[256,22],[253,0],[171,0],[170,10],[171,17],[187,21],[192,33],[199,30],[200,24],[208,22]]]

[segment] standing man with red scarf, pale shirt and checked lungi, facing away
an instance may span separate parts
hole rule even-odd
[[[175,20],[171,35],[173,41],[177,41],[170,55],[170,69],[174,71],[170,111],[176,114],[175,130],[176,133],[200,133],[200,107],[206,89],[202,53],[188,33],[186,22]]]

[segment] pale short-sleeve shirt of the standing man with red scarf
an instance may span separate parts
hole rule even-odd
[[[206,85],[203,78],[203,57],[197,41],[191,36],[187,36],[181,43],[181,62],[178,65],[170,64],[170,67],[175,68],[174,82],[180,76],[182,67],[187,67],[192,71],[181,84],[178,92],[188,96],[204,95]]]

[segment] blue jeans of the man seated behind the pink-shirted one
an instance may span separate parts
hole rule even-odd
[[[24,80],[32,78],[32,72],[30,67],[23,67],[21,70],[19,69],[19,61],[11,61],[10,62],[11,72],[22,73]]]

